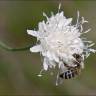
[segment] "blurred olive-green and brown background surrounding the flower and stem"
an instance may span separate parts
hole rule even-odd
[[[51,11],[57,13],[60,2],[66,17],[73,17],[75,22],[79,10],[80,16],[89,21],[85,29],[92,30],[86,37],[96,43],[95,0],[1,0],[0,40],[11,47],[34,45],[36,38],[29,36],[26,30],[38,28],[38,22],[45,19],[43,12],[48,16],[51,16]],[[50,72],[37,77],[41,68],[39,53],[0,49],[0,96],[96,95],[96,54],[85,60],[85,69],[78,78],[65,80],[58,87],[55,86],[56,77]]]

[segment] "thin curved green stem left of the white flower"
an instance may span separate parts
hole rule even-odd
[[[7,46],[6,44],[4,44],[3,42],[0,41],[0,47],[4,50],[7,51],[26,51],[29,50],[30,47],[32,47],[32,45],[26,46],[26,47],[21,47],[21,48],[11,48],[9,46]]]

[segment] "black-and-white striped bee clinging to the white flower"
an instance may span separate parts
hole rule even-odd
[[[73,54],[73,57],[76,59],[73,63],[76,65],[75,67],[70,67],[64,63],[64,65],[68,68],[65,72],[60,73],[59,77],[62,79],[71,79],[78,76],[81,73],[81,62],[82,57],[79,54]]]

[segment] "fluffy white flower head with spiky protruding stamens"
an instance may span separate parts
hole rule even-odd
[[[60,6],[59,6],[60,9]],[[58,10],[59,10],[58,9]],[[79,11],[77,11],[77,22],[72,24],[72,18],[66,18],[64,12],[48,17],[45,13],[46,21],[39,22],[38,30],[27,30],[27,33],[36,37],[39,44],[30,48],[31,52],[40,52],[44,57],[43,70],[47,71],[49,68],[58,67],[59,71],[67,70],[67,66],[75,67],[73,61],[76,61],[73,54],[79,54],[82,57],[81,68],[84,68],[84,59],[87,58],[91,52],[96,50],[91,49],[94,45],[92,41],[86,40],[82,34],[90,31],[83,31],[83,24],[87,23],[84,17],[79,19]],[[41,70],[42,71],[42,70]],[[41,76],[41,72],[39,74]]]

